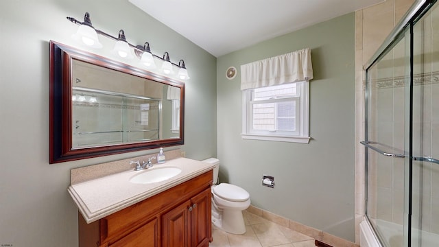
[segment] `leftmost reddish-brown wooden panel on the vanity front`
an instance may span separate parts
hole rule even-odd
[[[147,224],[144,224],[136,231],[126,235],[119,239],[114,244],[110,244],[108,247],[126,247],[126,246],[139,246],[139,247],[158,247],[158,220],[154,219]]]

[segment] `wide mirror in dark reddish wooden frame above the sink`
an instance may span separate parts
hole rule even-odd
[[[50,41],[49,163],[184,144],[185,84]]]

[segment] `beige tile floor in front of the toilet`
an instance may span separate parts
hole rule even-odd
[[[247,232],[233,235],[212,226],[213,242],[209,247],[316,247],[312,237],[244,211]]]

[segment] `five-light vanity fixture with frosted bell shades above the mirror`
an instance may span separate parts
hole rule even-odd
[[[163,73],[165,74],[174,73],[172,69],[172,65],[175,65],[176,67],[179,68],[178,78],[180,78],[181,80],[189,79],[189,75],[187,74],[187,69],[185,67],[185,62],[183,60],[180,60],[178,64],[171,62],[171,60],[169,60],[169,53],[167,51],[163,55],[163,58],[157,56],[151,52],[150,43],[147,42],[143,46],[132,45],[128,43],[128,41],[126,40],[125,33],[123,32],[123,30],[119,31],[119,36],[118,38],[116,38],[115,36],[111,36],[106,32],[102,32],[101,30],[95,29],[91,25],[90,14],[88,14],[88,12],[85,13],[84,22],[80,22],[74,19],[73,17],[67,17],[67,20],[77,25],[80,25],[80,27],[78,28],[78,32],[76,34],[73,34],[73,38],[75,40],[81,40],[84,44],[91,47],[101,48],[102,44],[99,43],[99,40],[97,39],[97,34],[105,36],[107,38],[116,41],[115,48],[112,49],[113,54],[117,54],[121,58],[132,58],[131,49],[134,49],[134,53],[140,58],[141,63],[144,64],[146,67],[151,69],[154,69],[156,67],[154,63],[154,57],[155,57],[163,60],[163,65],[162,65]]]

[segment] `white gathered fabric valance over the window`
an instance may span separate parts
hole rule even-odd
[[[241,65],[241,90],[312,78],[313,67],[309,48]]]

